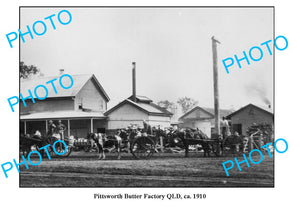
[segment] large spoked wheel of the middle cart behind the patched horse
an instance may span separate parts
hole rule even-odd
[[[155,151],[155,143],[149,137],[138,137],[133,141],[130,151],[137,159],[150,158]]]

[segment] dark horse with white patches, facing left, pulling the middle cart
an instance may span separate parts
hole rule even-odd
[[[105,136],[105,134],[101,133],[88,133],[87,139],[89,143],[93,144],[96,143],[96,146],[98,148],[99,157],[98,159],[105,159],[105,152],[104,147],[109,145],[114,145],[118,152],[118,160],[121,159],[121,144],[122,144],[122,138],[119,135],[114,136]]]

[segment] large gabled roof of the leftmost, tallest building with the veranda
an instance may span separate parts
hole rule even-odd
[[[85,74],[85,75],[71,75],[73,78],[73,86],[70,89],[64,89],[59,85],[59,77],[60,76],[49,76],[49,77],[37,77],[33,79],[22,79],[21,80],[21,93],[24,97],[29,95],[28,89],[31,90],[31,92],[34,92],[34,88],[38,85],[45,85],[48,89],[48,97],[47,98],[62,98],[62,97],[74,97],[77,95],[77,93],[84,87],[84,85],[92,79],[94,83],[96,84],[97,88],[99,89],[99,92],[103,94],[106,101],[109,101],[109,97],[95,75],[93,74]],[[51,81],[53,79],[57,79],[54,81],[55,88],[57,90],[57,94],[54,92],[54,89],[51,86],[51,83],[46,84],[46,82]],[[33,94],[34,95],[34,94]]]

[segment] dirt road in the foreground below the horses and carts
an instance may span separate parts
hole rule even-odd
[[[114,154],[99,161],[95,153],[72,153],[65,159],[55,158],[20,173],[21,187],[273,187],[273,159],[264,157],[258,165],[241,164],[227,177],[222,162],[233,157],[204,158],[192,154],[161,153],[149,160],[135,160]],[[240,158],[240,161],[242,158]]]

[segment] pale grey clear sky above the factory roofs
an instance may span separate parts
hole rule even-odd
[[[72,14],[68,25],[56,18],[62,9]],[[221,42],[220,108],[273,103],[274,54],[261,46],[273,39],[272,8],[21,8],[21,31],[52,14],[56,30],[45,21],[44,35],[25,36],[20,60],[45,76],[58,75],[59,69],[95,74],[111,99],[108,108],[131,95],[133,61],[138,95],[154,102],[186,96],[213,107],[212,36]],[[241,69],[235,62],[227,74],[222,60],[242,58],[253,46],[262,48],[263,58],[250,59],[250,65],[241,61]]]

